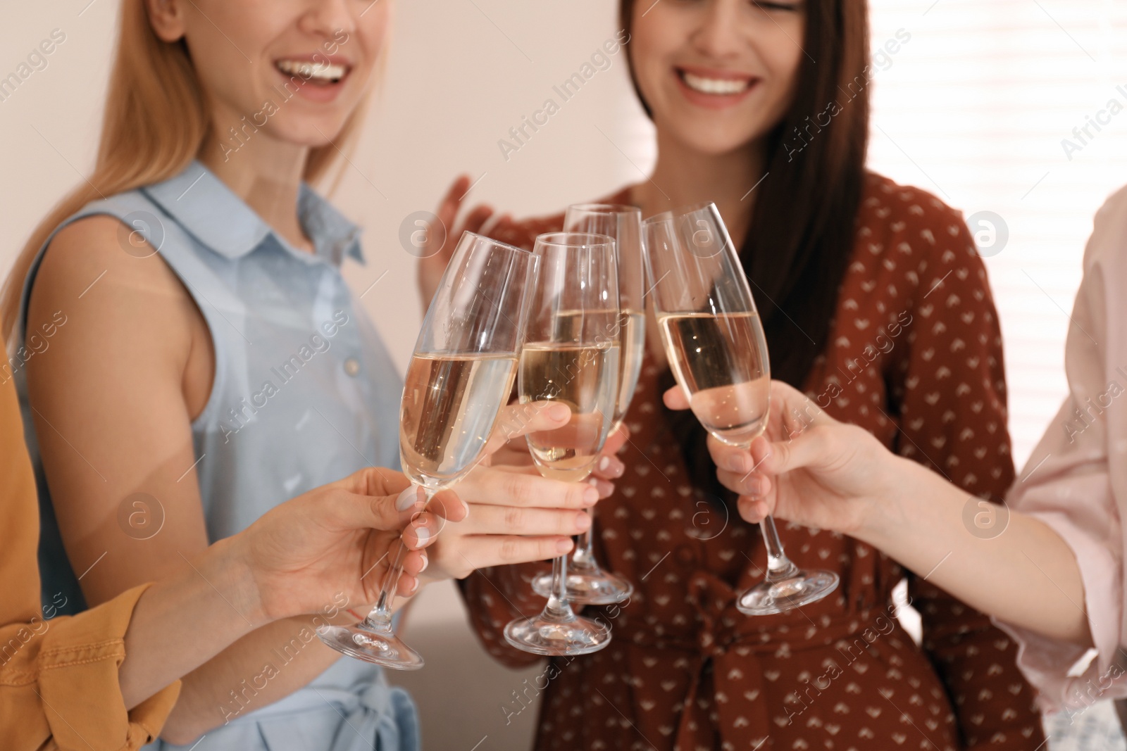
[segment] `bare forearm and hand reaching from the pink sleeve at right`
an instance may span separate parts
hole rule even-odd
[[[837,422],[787,384],[772,382],[771,393],[770,440],[756,439],[751,452],[709,440],[720,481],[742,494],[744,519],[775,513],[848,534],[983,613],[1091,644],[1080,567],[1059,535],[1011,511],[1003,534],[976,536],[964,513],[968,504],[988,512],[979,499]],[[677,388],[665,400],[687,408]]]

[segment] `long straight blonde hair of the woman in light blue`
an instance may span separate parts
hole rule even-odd
[[[16,257],[0,292],[0,333],[15,333],[32,261],[63,220],[91,200],[175,177],[196,158],[207,135],[207,101],[187,45],[157,36],[144,0],[123,0],[121,19],[94,173],[39,222]],[[349,115],[338,144],[353,141],[366,100]],[[332,144],[312,149],[304,179],[323,177],[336,153]]]

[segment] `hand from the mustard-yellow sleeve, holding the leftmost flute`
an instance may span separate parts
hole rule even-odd
[[[400,533],[409,549],[397,593],[414,594],[427,565],[420,548],[434,542],[440,518],[465,516],[465,504],[450,491],[426,510],[423,500],[401,473],[370,467],[263,515],[231,538],[252,582],[252,611],[264,620],[313,613],[338,592],[349,602],[374,602],[402,544]]]

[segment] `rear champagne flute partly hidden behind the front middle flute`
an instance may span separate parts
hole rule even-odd
[[[642,351],[646,346],[646,312],[642,304],[645,267],[641,258],[641,209],[616,204],[575,204],[564,215],[565,232],[605,234],[614,240],[619,272],[618,328],[621,337],[619,350],[618,401],[611,421],[613,435],[625,419],[641,373]],[[594,509],[592,509],[594,516]],[[611,605],[621,602],[633,592],[633,584],[613,573],[603,571],[595,560],[594,531],[591,528],[579,537],[571,554],[567,575],[567,594],[577,605]],[[551,594],[552,576],[541,574],[532,580],[532,589],[542,597]]]

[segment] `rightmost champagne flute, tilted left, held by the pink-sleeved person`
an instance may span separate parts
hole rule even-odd
[[[654,307],[673,376],[693,414],[717,439],[749,447],[771,405],[766,338],[747,277],[715,204],[642,223]],[[764,581],[743,592],[746,615],[784,613],[837,588],[837,574],[805,572],[786,555],[774,520],[760,525],[767,548]]]

